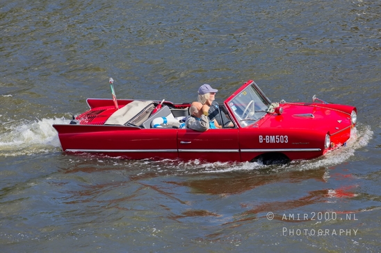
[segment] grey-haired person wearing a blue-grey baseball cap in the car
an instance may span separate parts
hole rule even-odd
[[[215,120],[218,128],[222,128],[222,123],[225,123],[225,128],[234,126],[232,121],[227,118],[225,114],[222,114],[223,122],[220,116],[220,109],[218,103],[215,100],[215,95],[218,89],[213,89],[210,85],[201,85],[198,89],[197,101],[202,103],[202,105],[209,105],[209,121]]]

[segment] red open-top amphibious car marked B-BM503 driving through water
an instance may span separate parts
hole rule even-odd
[[[90,110],[70,124],[53,125],[63,151],[126,159],[266,164],[312,159],[345,145],[357,118],[356,107],[315,96],[311,103],[271,103],[252,80],[219,104],[221,119],[231,121],[222,125],[229,127],[206,132],[183,127],[190,103],[116,98],[87,103]]]

